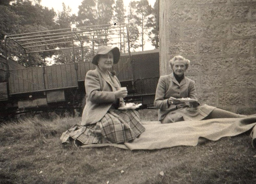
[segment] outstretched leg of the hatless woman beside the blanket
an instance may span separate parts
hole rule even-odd
[[[216,108],[214,109],[207,117],[204,119],[213,119],[213,118],[244,118],[246,115],[235,114],[227,110]]]

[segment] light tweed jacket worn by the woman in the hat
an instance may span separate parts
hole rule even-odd
[[[86,104],[82,114],[81,125],[97,123],[101,120],[117,100],[114,91],[121,87],[118,78],[109,74],[111,80],[106,78],[97,67],[89,70],[85,75]],[[120,98],[120,103],[124,103]]]

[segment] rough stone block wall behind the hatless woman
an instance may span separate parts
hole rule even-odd
[[[256,0],[160,0],[159,40],[160,75],[182,55],[201,103],[256,113]]]

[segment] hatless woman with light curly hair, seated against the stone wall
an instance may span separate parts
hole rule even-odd
[[[189,64],[188,59],[174,56],[170,60],[173,72],[159,78],[154,105],[159,109],[158,118],[161,123],[245,117],[213,106],[200,105],[195,82],[184,75]]]

